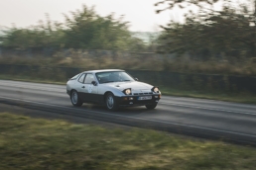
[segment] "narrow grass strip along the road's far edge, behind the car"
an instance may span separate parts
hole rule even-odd
[[[53,80],[44,80],[44,79],[32,79],[29,76],[8,76],[0,75],[0,79],[3,80],[16,80],[16,81],[26,81],[34,83],[49,83],[49,84],[59,84],[64,85],[65,82],[62,81],[53,81]],[[163,95],[169,96],[179,96],[179,97],[191,97],[199,99],[210,99],[210,100],[219,100],[226,102],[236,102],[236,103],[245,103],[245,104],[256,104],[256,96],[249,93],[225,93],[225,92],[202,92],[195,90],[181,90],[174,89],[170,87],[161,87],[161,92]]]

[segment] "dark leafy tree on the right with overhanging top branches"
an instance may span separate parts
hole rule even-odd
[[[238,7],[224,1],[221,10],[214,10],[217,1],[166,0],[156,5],[170,2],[163,10],[173,9],[175,6],[185,8],[193,5],[198,8],[194,14],[187,13],[186,23],[171,21],[161,37],[160,51],[185,53],[193,56],[217,57],[221,53],[228,56],[247,57],[256,56],[256,12],[255,2],[239,4]],[[202,6],[207,4],[207,7]],[[250,10],[253,4],[254,9]],[[162,12],[159,10],[158,12]]]

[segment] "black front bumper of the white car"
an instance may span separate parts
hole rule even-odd
[[[152,96],[152,99],[138,100],[139,97],[145,97],[145,96]],[[144,105],[156,104],[160,101],[160,99],[161,99],[161,94],[116,97],[116,101],[119,106],[144,106]]]

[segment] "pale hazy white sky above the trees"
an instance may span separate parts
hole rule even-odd
[[[179,10],[156,14],[154,4],[160,0],[0,0],[0,26],[17,27],[36,25],[39,20],[46,19],[46,13],[54,21],[64,21],[63,14],[81,9],[85,4],[95,6],[101,16],[115,13],[125,15],[124,20],[130,22],[130,30],[136,32],[160,31],[159,25],[167,24],[171,16],[181,18]]]

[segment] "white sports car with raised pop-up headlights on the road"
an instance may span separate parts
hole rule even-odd
[[[82,103],[97,103],[111,111],[123,106],[155,109],[161,98],[157,87],[139,82],[120,69],[81,72],[67,81],[66,93],[75,107]]]

